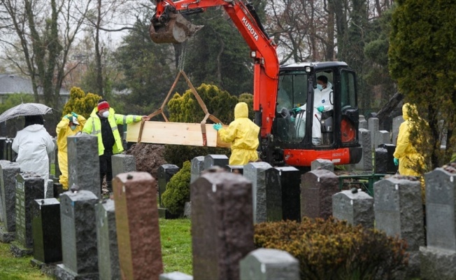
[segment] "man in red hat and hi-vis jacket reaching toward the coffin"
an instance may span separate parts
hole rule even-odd
[[[137,123],[141,120],[150,120],[148,116],[121,115],[115,113],[106,99],[101,99],[94,108],[83,128],[83,133],[98,137],[98,155],[100,160],[100,190],[103,193],[103,179],[106,176],[108,191],[112,193],[113,166],[111,156],[122,153],[122,137],[117,125]]]

